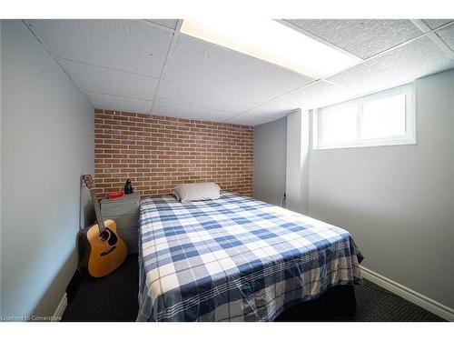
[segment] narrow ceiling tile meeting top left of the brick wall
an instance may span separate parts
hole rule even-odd
[[[152,102],[140,99],[118,97],[114,95],[100,95],[87,93],[88,100],[97,109],[128,111],[132,113],[148,114]]]

